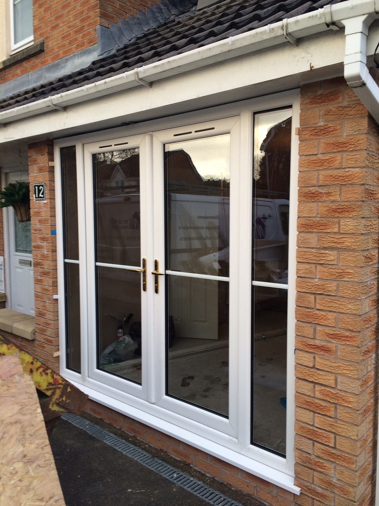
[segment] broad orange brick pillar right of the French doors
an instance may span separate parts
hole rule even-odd
[[[369,504],[374,469],[378,128],[343,78],[302,87],[296,484]]]

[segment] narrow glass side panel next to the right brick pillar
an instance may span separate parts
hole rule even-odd
[[[291,126],[291,109],[254,117],[252,443],[281,455],[286,454]]]

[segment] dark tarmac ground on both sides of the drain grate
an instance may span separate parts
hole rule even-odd
[[[208,478],[185,463],[171,458],[165,452],[145,445],[136,438],[128,437],[102,420],[88,418],[118,437],[240,502],[243,506],[259,506],[260,503],[248,494],[234,491]],[[165,504],[205,506],[209,504],[82,429],[74,427],[66,420],[58,419],[49,439],[66,506],[150,506],[155,504],[157,506]]]

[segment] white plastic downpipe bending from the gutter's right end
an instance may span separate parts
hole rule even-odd
[[[375,1],[375,11],[377,11]],[[375,14],[368,14],[343,20],[345,25],[346,49],[344,60],[344,76],[349,87],[354,90],[368,112],[379,123],[379,87],[369,73],[366,66],[366,45],[368,27],[376,18]],[[379,405],[377,406],[379,410]],[[379,420],[377,425],[377,440],[379,439]],[[377,447],[376,447],[377,449]],[[376,451],[375,476],[375,506],[379,506],[379,451]]]

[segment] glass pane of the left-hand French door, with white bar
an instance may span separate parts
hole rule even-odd
[[[93,155],[98,367],[141,383],[139,150]]]

